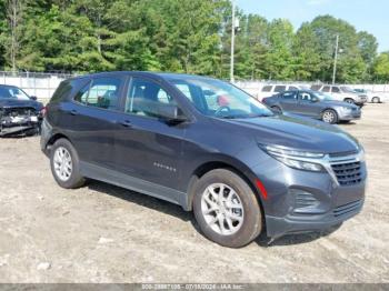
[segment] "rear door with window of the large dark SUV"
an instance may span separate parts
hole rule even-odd
[[[120,76],[92,78],[63,108],[81,161],[114,169],[114,130],[123,84]]]

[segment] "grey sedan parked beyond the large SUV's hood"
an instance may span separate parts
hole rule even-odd
[[[361,118],[359,107],[333,100],[330,96],[311,90],[286,91],[265,98],[262,102],[276,112],[291,112],[332,124]]]

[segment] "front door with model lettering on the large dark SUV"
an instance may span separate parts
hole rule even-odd
[[[187,126],[169,124],[156,108],[159,103],[177,104],[174,98],[156,80],[133,77],[124,99],[116,134],[118,171],[141,179],[146,188],[153,187],[148,182],[173,188],[178,184]]]

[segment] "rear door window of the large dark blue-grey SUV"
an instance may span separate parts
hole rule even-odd
[[[89,107],[117,110],[121,80],[117,78],[99,78],[82,88],[74,100]]]

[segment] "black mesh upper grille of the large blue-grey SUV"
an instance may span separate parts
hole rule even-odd
[[[362,181],[360,162],[336,163],[331,167],[340,185],[352,185]]]

